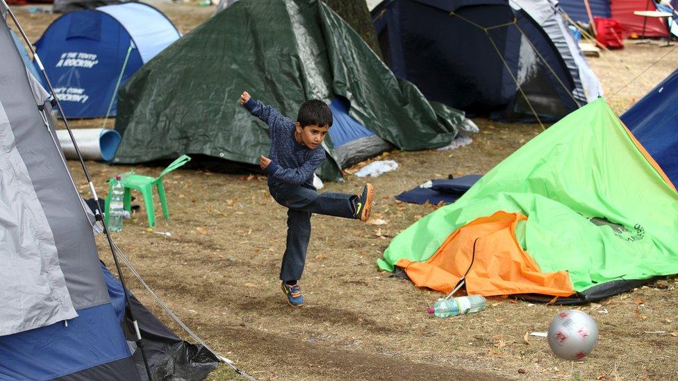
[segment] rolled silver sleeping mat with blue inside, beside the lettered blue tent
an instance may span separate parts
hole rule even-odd
[[[78,148],[85,160],[110,162],[115,157],[115,151],[122,137],[116,130],[105,128],[83,128],[73,131],[73,137],[78,142]],[[67,159],[77,159],[71,137],[67,130],[56,130],[61,149]]]

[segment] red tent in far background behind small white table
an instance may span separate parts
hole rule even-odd
[[[634,15],[634,10],[657,10],[654,0],[611,0],[610,10],[612,18],[622,24],[622,38],[627,38],[633,33],[642,37],[643,22],[645,37],[668,37],[666,19]]]

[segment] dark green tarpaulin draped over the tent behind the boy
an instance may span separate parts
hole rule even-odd
[[[350,102],[349,115],[400,149],[449,144],[462,112],[427,101],[400,81],[336,13],[316,0],[238,1],[142,67],[122,88],[115,162],[204,154],[257,164],[267,126],[238,99],[296,117],[308,99]],[[336,158],[331,139],[326,151]],[[322,177],[340,176],[326,160]]]

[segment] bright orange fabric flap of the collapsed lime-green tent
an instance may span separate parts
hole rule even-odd
[[[520,221],[526,220],[523,214],[502,211],[475,219],[449,235],[429,260],[401,259],[396,265],[404,268],[418,287],[449,293],[474,257],[466,276],[468,294],[574,294],[567,271],[541,272],[532,257],[520,247],[515,228]]]

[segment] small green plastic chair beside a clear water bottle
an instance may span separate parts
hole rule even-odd
[[[167,199],[165,198],[165,186],[163,185],[163,176],[181,167],[183,164],[190,162],[188,155],[181,155],[179,159],[174,160],[167,166],[160,176],[157,178],[151,176],[135,175],[133,171],[122,173],[120,175],[120,183],[125,187],[124,193],[124,210],[131,212],[132,210],[132,189],[141,192],[144,197],[144,204],[149,218],[149,226],[153,228],[156,226],[156,214],[153,208],[153,187],[158,188],[158,196],[160,197],[160,205],[163,206],[163,216],[169,219],[169,210],[167,210]],[[113,195],[113,181],[115,177],[108,179],[108,195],[106,196],[106,225],[108,226],[108,208],[110,207],[110,196]]]

